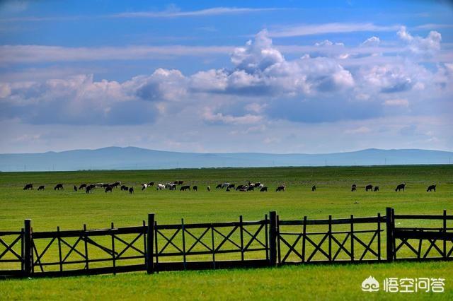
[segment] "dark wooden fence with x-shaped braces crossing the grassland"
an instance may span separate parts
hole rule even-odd
[[[451,260],[453,216],[386,215],[0,232],[0,277],[246,268],[285,264]],[[437,224],[436,224],[437,223]],[[383,237],[385,232],[385,236]]]

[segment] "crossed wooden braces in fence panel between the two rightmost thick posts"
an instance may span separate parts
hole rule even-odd
[[[284,263],[287,260],[287,258],[289,257],[289,255],[291,255],[292,253],[296,254],[297,257],[299,257],[299,259],[302,260],[302,262],[311,261],[311,259],[313,259],[313,257],[318,252],[323,254],[323,256],[325,256],[326,259],[332,260],[332,261],[335,261],[337,259],[338,254],[340,254],[340,252],[342,250],[346,254],[348,254],[348,256],[352,257],[352,251],[346,249],[346,247],[345,247],[345,243],[348,241],[348,238],[354,240],[355,242],[359,242],[359,244],[361,244],[365,248],[363,253],[362,253],[362,256],[360,256],[359,261],[362,261],[365,258],[365,255],[368,252],[372,253],[374,256],[379,257],[379,254],[377,252],[375,252],[374,249],[372,249],[372,247],[371,247],[372,243],[374,242],[374,239],[378,235],[379,230],[373,230],[373,231],[368,231],[368,232],[374,232],[374,235],[372,236],[372,238],[369,240],[368,243],[365,243],[363,240],[361,240],[359,237],[357,237],[357,235],[355,235],[353,232],[347,232],[347,233],[340,232],[342,234],[346,234],[346,236],[343,239],[343,242],[340,242],[340,240],[338,240],[337,237],[335,237],[335,235],[334,235],[334,234],[340,234],[340,233],[326,232],[325,234],[323,234],[323,237],[321,238],[321,240],[318,243],[314,242],[314,240],[311,240],[309,235],[314,236],[314,235],[319,235],[319,233],[316,233],[316,234],[314,234],[314,233],[305,233],[304,234],[303,232],[302,233],[279,233],[278,239],[281,242],[283,242],[284,244],[286,244],[286,246],[288,247],[288,250],[287,250],[285,256],[283,256],[283,259],[281,259],[281,262]],[[283,235],[296,235],[297,237],[294,240],[294,242],[292,244],[290,244],[287,240],[285,240]],[[329,253],[326,252],[326,250],[322,249],[323,243],[329,237],[331,238],[331,242],[335,242],[336,245],[338,246],[338,250],[332,256],[332,259],[330,259],[331,256],[329,255]],[[305,261],[305,252],[304,252],[305,251],[305,247],[304,246],[302,247],[302,249],[303,249],[302,252],[298,252],[297,249],[296,249],[297,243],[301,240],[301,238],[304,238],[305,242],[309,242],[309,244],[311,244],[314,247],[313,252],[311,252],[311,254],[309,255],[308,259],[306,259],[306,261]]]

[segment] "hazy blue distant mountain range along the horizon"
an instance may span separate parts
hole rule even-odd
[[[151,170],[200,167],[449,164],[453,152],[419,149],[347,153],[176,153],[135,147],[108,147],[47,153],[0,154],[0,171]]]

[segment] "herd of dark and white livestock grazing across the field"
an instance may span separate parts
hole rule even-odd
[[[148,187],[154,187],[154,182],[143,183],[143,184],[141,184],[141,186],[142,186],[142,190],[145,190]],[[192,189],[192,191],[198,191],[198,187],[196,185],[193,185],[192,187],[190,187],[190,185],[184,185],[184,181],[167,182],[165,184],[159,183],[159,184],[155,185],[156,190],[176,190],[178,186],[180,186],[180,188],[179,188],[180,191],[186,191],[186,190],[190,191],[190,189]],[[130,194],[134,193],[134,187],[127,187],[125,185],[122,185],[121,181],[117,181],[114,183],[96,183],[96,184],[83,183],[79,186],[79,188],[77,188],[77,186],[74,185],[73,189],[74,189],[74,191],[85,190],[85,192],[87,194],[91,194],[91,192],[93,192],[93,190],[96,188],[104,189],[105,192],[113,192],[113,189],[115,189],[117,187],[120,187],[121,191],[129,191]],[[406,188],[406,183],[399,184],[398,186],[396,186],[395,191],[401,191],[401,190],[404,191],[405,188]],[[26,184],[25,187],[23,187],[23,190],[30,190],[30,189],[33,189],[33,184],[31,184],[31,183]],[[38,190],[44,190],[44,189],[45,189],[45,185],[40,185],[40,187],[38,187]],[[62,183],[59,183],[54,187],[54,190],[63,190],[63,189],[64,189],[64,187],[63,187]],[[207,191],[211,191],[211,187],[209,185],[206,187],[206,189],[207,189]],[[236,191],[244,191],[244,192],[245,191],[255,191],[255,190],[261,191],[261,192],[268,191],[268,187],[264,186],[264,184],[261,184],[260,182],[256,182],[256,183],[248,182],[248,184],[239,184],[237,186],[236,186],[236,184],[231,184],[231,183],[225,182],[225,183],[217,184],[215,189],[225,189],[225,191],[236,190]],[[285,185],[278,186],[275,189],[275,191],[285,191]],[[316,191],[316,185],[311,187],[311,191]],[[357,184],[352,184],[351,191],[357,191]],[[373,187],[373,185],[369,184],[369,185],[365,186],[365,191],[379,191],[379,186]],[[427,192],[436,191],[436,185],[430,185],[428,187],[428,189],[426,189],[426,191]]]

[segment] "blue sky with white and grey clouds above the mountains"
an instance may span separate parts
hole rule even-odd
[[[453,151],[453,4],[0,1],[0,129],[0,153]]]

